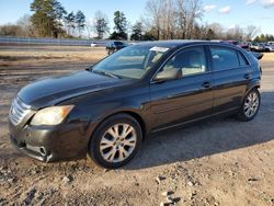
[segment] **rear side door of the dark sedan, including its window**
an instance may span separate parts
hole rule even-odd
[[[252,70],[244,55],[235,48],[209,46],[213,65],[214,114],[241,106]]]

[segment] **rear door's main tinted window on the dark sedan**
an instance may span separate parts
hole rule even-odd
[[[210,47],[213,67],[215,70],[224,70],[239,67],[238,55],[235,49],[226,47]]]

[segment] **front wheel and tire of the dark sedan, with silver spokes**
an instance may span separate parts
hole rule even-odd
[[[99,167],[117,169],[135,157],[141,139],[141,127],[134,117],[127,114],[113,115],[101,123],[93,133],[88,156]]]

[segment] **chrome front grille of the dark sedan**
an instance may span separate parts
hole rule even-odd
[[[31,106],[24,104],[19,98],[12,102],[10,110],[10,121],[13,125],[19,125],[23,118],[31,112]]]

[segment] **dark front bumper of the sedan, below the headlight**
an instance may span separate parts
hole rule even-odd
[[[91,130],[84,128],[82,124],[20,128],[10,123],[10,139],[22,153],[53,162],[87,153]]]

